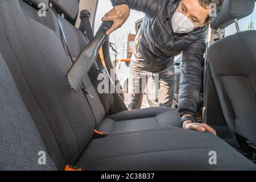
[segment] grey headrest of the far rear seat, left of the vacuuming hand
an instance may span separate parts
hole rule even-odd
[[[68,15],[69,18],[75,19],[79,13],[79,1],[78,0],[50,0],[53,6],[59,11]]]

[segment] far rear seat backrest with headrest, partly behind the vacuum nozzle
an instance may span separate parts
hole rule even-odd
[[[59,0],[59,1],[50,1],[52,3],[53,8],[59,14],[64,14],[69,16],[69,18],[73,18],[77,16],[77,9],[72,8],[69,9],[68,7],[72,7],[77,5],[78,8],[78,1],[77,0]],[[60,19],[61,26],[63,26],[63,31],[65,34],[65,38],[67,39],[67,44],[65,44],[65,40],[63,39],[63,46],[65,48],[65,52],[68,57],[69,52],[73,57],[73,60],[76,60],[76,57],[79,56],[80,52],[86,44],[89,43],[88,38],[86,35],[82,34],[82,32],[74,27],[71,23],[69,23],[66,19],[64,19],[61,15],[58,15]],[[60,32],[61,34],[61,32]],[[67,48],[68,46],[68,48]],[[69,51],[67,50],[69,49]],[[72,60],[71,60],[72,62]],[[97,92],[98,84],[101,80],[98,80],[98,75],[100,74],[97,71],[97,64],[94,63],[93,67],[91,68],[88,75],[86,75],[84,80],[84,85],[86,90],[94,97],[88,97],[89,104],[92,107],[93,114],[97,121],[97,126],[100,125],[101,121],[105,118],[106,114],[109,113],[110,110],[110,101],[108,94],[99,94]]]

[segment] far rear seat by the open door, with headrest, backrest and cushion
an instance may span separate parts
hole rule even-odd
[[[76,18],[79,9],[79,3],[77,0],[51,0],[50,2],[52,2],[53,7],[55,7],[60,14],[65,14],[71,19]],[[75,8],[76,6],[77,8]],[[60,15],[58,16],[63,26],[65,38],[67,39],[68,49],[75,60],[86,44],[88,44],[88,38],[86,38],[86,35],[82,34],[80,30],[70,24],[67,20],[62,18]],[[59,32],[59,34],[61,37],[61,32]],[[66,49],[65,52],[69,57],[67,46],[65,46],[64,40],[62,40],[62,42]],[[97,77],[100,74],[100,72],[96,71],[97,68],[98,65],[95,63],[92,71],[89,73],[89,76],[86,76],[84,81],[86,89],[88,89],[88,92],[94,97],[88,97],[88,100],[96,118],[97,130],[104,131],[105,133],[113,133],[121,130],[130,131],[159,126],[181,127],[179,113],[177,110],[170,108],[156,107],[142,109],[139,111],[127,110],[122,111],[121,113],[109,115],[109,96],[107,94],[100,94],[96,91],[98,84],[101,81],[97,80]],[[92,82],[96,84],[93,85]],[[104,107],[102,105],[104,105]]]

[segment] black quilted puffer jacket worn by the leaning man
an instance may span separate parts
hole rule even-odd
[[[183,51],[180,78],[179,111],[195,115],[201,89],[201,64],[206,49],[208,27],[188,34],[174,34],[171,18],[180,0],[113,0],[115,5],[126,4],[130,9],[146,14],[137,45],[138,55],[145,69],[157,72],[174,61]],[[113,2],[112,1],[112,2]]]

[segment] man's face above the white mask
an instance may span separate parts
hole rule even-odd
[[[187,16],[193,24],[203,27],[209,22],[205,22],[209,16],[210,7],[205,9],[198,0],[181,0],[178,11]]]

